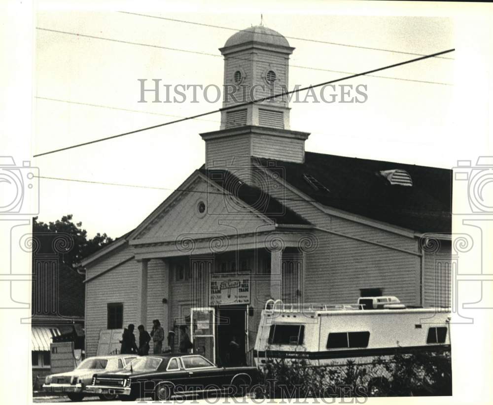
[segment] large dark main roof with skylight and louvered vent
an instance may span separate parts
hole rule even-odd
[[[418,232],[452,232],[452,170],[306,152],[305,163],[252,158],[275,166],[287,183],[317,202]],[[270,163],[269,163],[270,162]],[[406,170],[412,187],[391,185],[381,170]],[[315,190],[304,174],[326,190]]]

